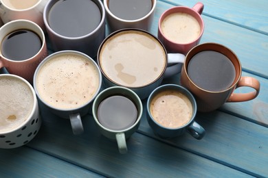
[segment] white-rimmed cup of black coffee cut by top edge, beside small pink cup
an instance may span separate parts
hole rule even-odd
[[[107,25],[110,32],[124,28],[138,28],[148,31],[153,23],[156,0],[104,0]]]

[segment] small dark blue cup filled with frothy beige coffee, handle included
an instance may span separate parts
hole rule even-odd
[[[159,86],[148,97],[146,106],[148,124],[161,138],[173,138],[186,131],[198,140],[205,135],[205,129],[194,121],[197,103],[182,86]]]

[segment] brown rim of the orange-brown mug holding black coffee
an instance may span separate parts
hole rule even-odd
[[[241,76],[242,76],[242,65],[241,65],[241,62],[240,62],[238,56],[236,55],[236,53],[234,53],[234,51],[232,51],[232,49],[230,49],[230,48],[228,48],[228,47],[225,47],[223,44],[219,44],[219,43],[216,43],[216,42],[205,42],[205,43],[202,43],[202,44],[198,44],[197,46],[195,46],[195,47],[193,47],[192,49],[190,49],[190,51],[189,51],[189,52],[187,53],[187,55],[186,55],[186,60],[190,61],[191,59],[188,59],[188,55],[190,55],[190,53],[191,53],[192,51],[194,51],[194,49],[197,49],[198,47],[200,47],[200,46],[204,46],[204,45],[216,45],[216,46],[218,46],[218,47],[227,49],[228,51],[230,51],[230,53],[232,53],[232,55],[234,55],[234,57],[236,58],[236,62],[238,62],[238,64],[239,64],[239,66],[238,66],[238,67],[239,67],[239,74],[238,74],[237,79],[235,79],[235,80],[233,81],[232,85],[229,86],[228,88],[226,88],[225,90],[220,90],[220,91],[210,91],[210,90],[205,90],[205,89],[203,89],[203,88],[197,86],[197,84],[195,84],[194,81],[192,81],[192,79],[191,79],[191,78],[189,77],[189,75],[188,75],[188,70],[187,70],[187,68],[186,68],[186,63],[184,63],[184,64],[183,64],[183,70],[185,71],[186,77],[190,80],[191,84],[194,85],[194,87],[196,87],[196,88],[198,88],[199,90],[202,90],[202,91],[204,91],[204,92],[208,92],[208,93],[214,93],[214,94],[216,94],[216,93],[222,93],[222,92],[227,92],[227,91],[230,90],[231,88],[234,88],[234,86],[236,86],[236,84],[238,83],[239,79],[240,79]],[[206,51],[206,50],[201,50],[201,51]],[[201,51],[198,51],[198,53],[201,52]],[[214,50],[211,50],[211,51],[214,51]],[[220,51],[217,51],[217,52],[220,52]],[[195,54],[197,54],[197,53],[195,53]],[[222,53],[222,54],[225,55],[224,53]],[[225,55],[225,56],[226,56],[226,55]],[[226,56],[226,57],[227,57],[227,56]],[[228,58],[228,57],[227,57],[227,58]],[[228,59],[229,59],[229,58],[228,58]],[[186,62],[186,60],[185,60],[185,62]],[[229,60],[230,60],[230,59],[229,59]],[[233,64],[233,65],[234,65],[234,64]],[[237,73],[237,71],[236,71],[236,73]]]

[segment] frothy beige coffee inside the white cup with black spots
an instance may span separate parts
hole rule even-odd
[[[21,127],[34,107],[32,90],[23,81],[0,77],[0,132]]]

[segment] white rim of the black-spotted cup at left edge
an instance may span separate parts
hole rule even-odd
[[[23,77],[20,77],[18,75],[14,75],[14,74],[9,74],[9,73],[8,74],[1,74],[0,78],[1,77],[12,77],[12,78],[19,79],[19,80],[23,81],[23,83],[25,83],[28,86],[28,88],[30,88],[30,90],[32,92],[32,96],[34,98],[32,110],[31,110],[30,114],[27,116],[27,119],[24,120],[23,123],[21,123],[21,125],[19,127],[10,129],[8,131],[3,131],[3,132],[0,131],[0,135],[4,135],[4,134],[12,133],[13,131],[16,131],[16,130],[23,128],[27,124],[27,122],[32,118],[32,116],[34,115],[36,107],[38,107],[38,103],[37,103],[37,98],[36,98],[36,92],[34,91],[34,88],[29,83],[29,81],[27,81],[26,79],[23,79]]]

